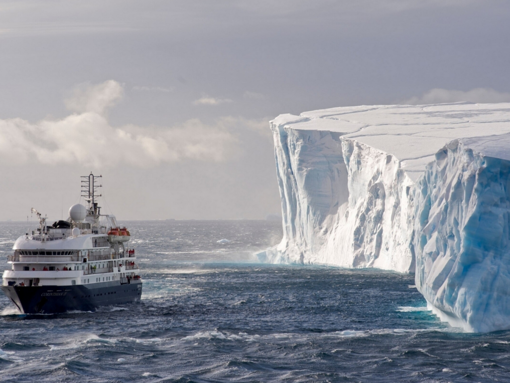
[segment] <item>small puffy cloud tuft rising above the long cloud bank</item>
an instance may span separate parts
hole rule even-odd
[[[108,80],[96,85],[86,82],[77,85],[64,103],[73,112],[103,114],[107,108],[119,102],[123,95],[124,88],[117,81]]]

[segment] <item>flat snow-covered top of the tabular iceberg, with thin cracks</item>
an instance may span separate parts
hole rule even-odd
[[[510,160],[510,103],[378,105],[281,114],[272,123],[339,132],[393,154],[416,179],[447,142],[460,139],[480,154]]]

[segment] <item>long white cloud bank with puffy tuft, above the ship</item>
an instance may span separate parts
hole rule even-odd
[[[111,126],[106,111],[122,99],[123,92],[114,80],[81,84],[65,100],[74,113],[62,119],[35,124],[21,118],[0,119],[0,162],[146,167],[184,159],[222,161],[235,150],[238,139],[229,129],[239,121],[232,117],[212,126],[198,119],[172,128]]]

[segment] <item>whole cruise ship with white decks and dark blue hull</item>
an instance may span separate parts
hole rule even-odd
[[[22,314],[94,311],[99,306],[139,301],[142,279],[126,228],[101,214],[96,202],[101,176],[82,177],[82,197],[66,221],[52,225],[37,214],[39,227],[21,235],[8,256],[2,291]]]

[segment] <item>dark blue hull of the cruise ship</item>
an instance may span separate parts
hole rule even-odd
[[[74,286],[1,286],[22,314],[57,314],[70,310],[94,311],[140,301],[142,282],[119,281]]]

